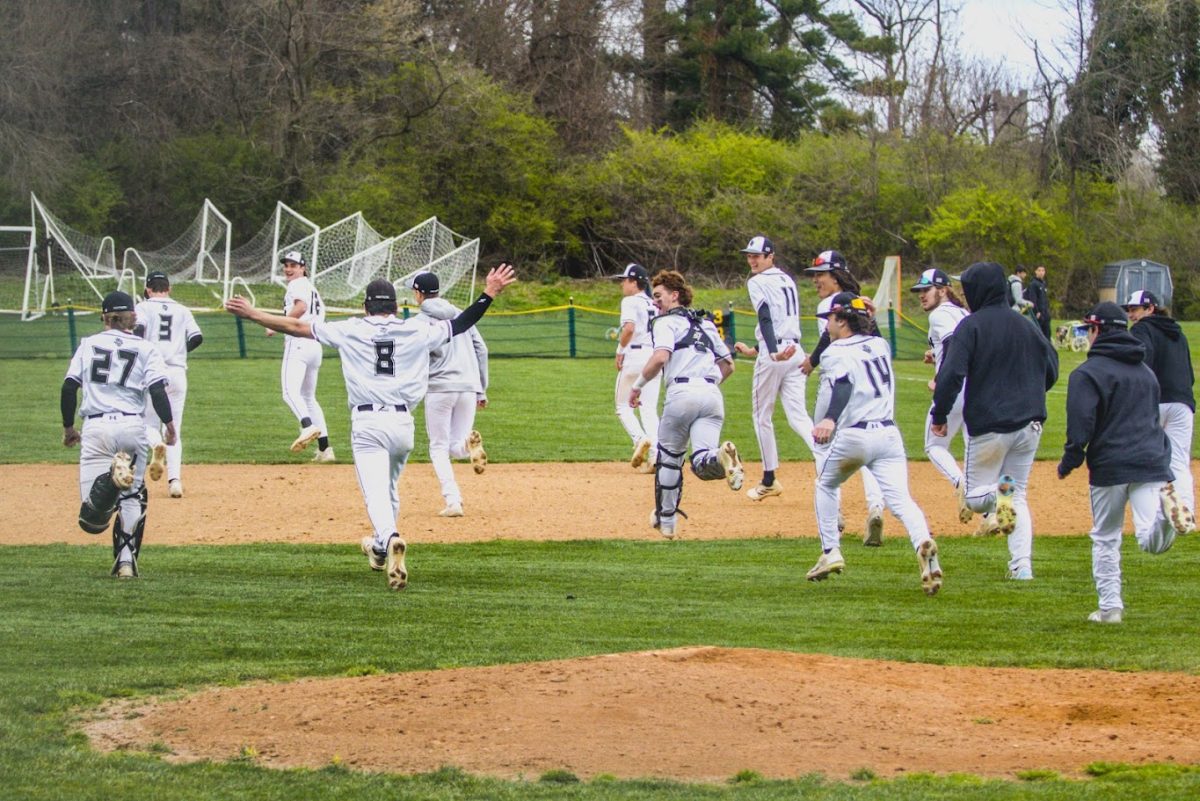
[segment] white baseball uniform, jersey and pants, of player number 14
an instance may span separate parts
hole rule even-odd
[[[853,335],[829,343],[821,356],[821,384],[827,398],[816,418],[824,420],[834,384],[850,381],[850,402],[838,417],[834,436],[816,480],[817,529],[821,547],[839,548],[838,487],[859,465],[871,472],[883,501],[908,531],[913,549],[929,540],[925,516],[908,493],[908,463],[895,426],[895,381],[892,349],[881,337]]]

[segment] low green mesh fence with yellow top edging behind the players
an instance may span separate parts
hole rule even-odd
[[[414,313],[412,308],[401,311],[406,315]],[[919,321],[898,314],[889,331],[886,314],[881,313],[880,326],[883,336],[893,342],[895,357],[920,359],[928,348],[925,329]],[[338,318],[330,315],[329,319]],[[259,359],[277,357],[282,353],[282,336],[268,337],[260,326],[240,323],[226,312],[196,311],[196,320],[204,332],[204,344],[191,355],[192,359]],[[493,357],[612,359],[619,323],[616,312],[556,306],[488,312],[479,330]],[[816,345],[815,320],[804,318],[803,324],[804,347],[811,350]],[[740,339],[752,344],[754,325],[751,312],[726,309],[718,314],[718,327],[731,343]],[[22,321],[18,314],[0,314],[0,359],[67,360],[79,338],[101,327],[95,308],[66,308],[29,321]]]

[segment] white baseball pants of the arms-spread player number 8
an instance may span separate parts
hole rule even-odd
[[[350,411],[354,472],[379,550],[386,548],[388,538],[397,532],[400,489],[396,484],[414,441],[413,415],[407,411],[396,411],[394,406]]]

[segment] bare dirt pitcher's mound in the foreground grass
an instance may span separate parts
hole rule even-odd
[[[510,778],[1074,776],[1094,760],[1200,761],[1200,677],[695,648],[120,701],[88,734],[178,760]]]

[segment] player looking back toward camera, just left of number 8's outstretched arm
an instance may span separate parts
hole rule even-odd
[[[283,314],[302,323],[324,323],[325,303],[320,293],[308,279],[308,266],[304,254],[290,251],[283,254],[283,277],[288,281],[287,294],[283,296]],[[266,336],[274,336],[268,330]],[[320,373],[320,343],[305,337],[288,336],[283,344],[283,366],[280,369],[280,383],[283,386],[283,402],[300,421],[300,435],[292,442],[292,452],[299,453],[317,441],[317,456],[313,462],[334,460],[334,450],[329,446],[329,429],[325,427],[325,412],[317,403],[317,377]]]

